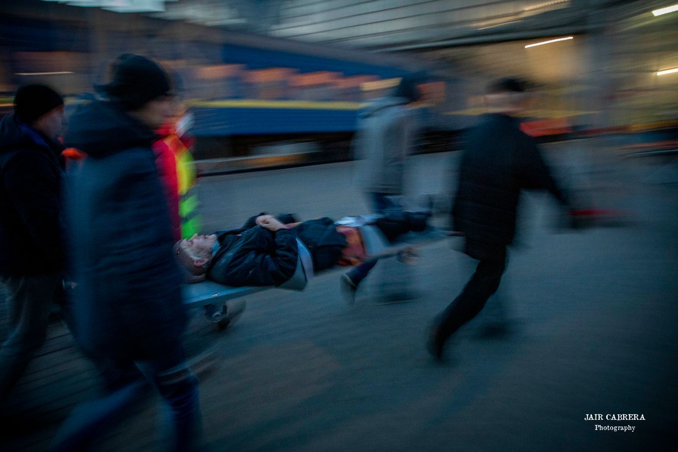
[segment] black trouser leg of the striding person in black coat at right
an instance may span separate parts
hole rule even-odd
[[[483,309],[499,288],[506,269],[506,248],[483,253],[478,265],[462,292],[447,306],[437,319],[436,334],[445,340],[464,323],[473,319]]]

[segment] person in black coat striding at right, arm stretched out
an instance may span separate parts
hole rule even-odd
[[[506,247],[515,235],[522,190],[546,190],[567,206],[536,141],[519,129],[516,115],[529,101],[525,83],[500,79],[490,85],[486,115],[468,136],[452,207],[453,229],[464,234],[464,253],[478,261],[462,292],[437,319],[428,351],[440,359],[447,339],[473,319],[494,294],[506,269]]]

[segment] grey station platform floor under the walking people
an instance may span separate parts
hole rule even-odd
[[[468,278],[455,249],[460,239],[422,249],[414,266],[380,263],[353,306],[342,302],[336,271],[303,293],[247,297],[239,323],[226,331],[195,312],[186,347],[220,356],[200,375],[207,450],[669,449],[678,425],[678,184],[647,182],[665,161],[622,159],[593,140],[544,149],[580,199],[627,216],[563,232],[548,197],[525,197],[505,279],[509,336],[479,337],[481,313],[459,331],[445,363],[426,352],[428,325]],[[412,157],[410,190],[440,194],[444,209],[456,159]],[[367,213],[355,165],[204,178],[205,231],[262,211],[302,219]],[[444,226],[444,215],[436,221]],[[398,302],[402,291],[407,302]],[[0,300],[0,340],[5,334]],[[0,449],[45,450],[95,388],[94,369],[55,320],[0,412]],[[153,396],[130,411],[96,450],[157,450],[158,405]],[[584,420],[592,413],[603,420]]]

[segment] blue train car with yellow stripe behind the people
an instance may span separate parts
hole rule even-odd
[[[53,85],[69,106],[77,104],[106,79],[115,56],[146,54],[181,81],[202,173],[351,159],[361,104],[386,94],[407,73],[433,69],[409,58],[140,14],[35,0],[1,8],[5,111],[16,86],[33,81]],[[435,91],[441,103],[452,92],[439,78],[422,89]],[[445,149],[441,136],[454,133],[456,121],[443,110],[418,108],[427,137],[422,151]]]

